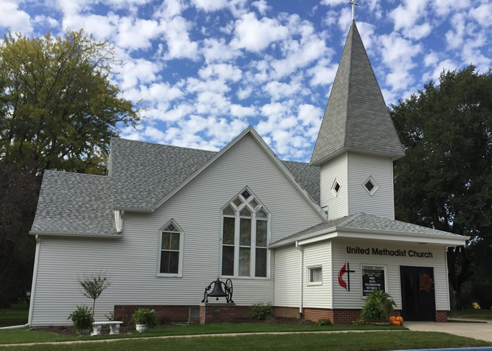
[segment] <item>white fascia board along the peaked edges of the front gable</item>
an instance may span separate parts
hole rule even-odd
[[[302,194],[302,196],[304,197],[304,199],[306,199],[306,201],[308,201],[308,203],[311,205],[311,207],[313,207],[313,209],[316,211],[316,213],[318,213],[318,215],[323,220],[325,220],[326,219],[326,215],[323,212],[323,209],[318,204],[316,204],[316,202],[314,202],[314,200],[311,198],[311,196],[309,196],[309,194],[306,192],[306,190],[304,190],[301,187],[301,185],[299,185],[299,183],[297,183],[297,181],[295,180],[294,176],[292,176],[292,173],[290,173],[290,171],[287,169],[287,167],[284,166],[284,164],[282,163],[282,161],[280,161],[280,159],[278,159],[277,155],[271,150],[270,147],[268,147],[268,145],[265,143],[265,141],[263,139],[261,139],[261,136],[257,133],[257,131],[254,130],[254,128],[252,126],[248,126],[244,131],[242,131],[242,133],[240,133],[238,136],[236,136],[231,141],[231,143],[228,143],[226,146],[224,146],[222,148],[222,150],[220,150],[219,152],[217,152],[216,154],[214,154],[214,156],[211,159],[209,159],[207,162],[205,162],[205,164],[203,164],[200,168],[198,168],[192,175],[190,175],[188,178],[186,178],[185,180],[183,180],[183,182],[180,185],[178,185],[177,187],[175,187],[164,198],[162,198],[160,201],[157,201],[150,208],[150,212],[155,211],[157,208],[159,208],[159,206],[161,206],[162,204],[164,204],[164,202],[166,202],[174,194],[176,194],[176,192],[179,192],[179,190],[181,190],[188,183],[190,183],[190,181],[193,180],[193,178],[195,178],[200,173],[202,173],[202,171],[205,170],[205,168],[207,168],[208,166],[210,166],[210,164],[214,163],[214,161],[216,159],[218,159],[219,157],[221,157],[222,154],[224,154],[224,152],[226,152],[231,147],[233,147],[233,145],[235,145],[236,143],[238,143],[238,141],[241,140],[247,133],[250,133],[250,135],[252,136],[252,138],[257,141],[258,145],[260,145],[260,147],[264,150],[264,152],[266,152],[266,154],[268,155],[268,157],[270,157],[270,159],[272,159],[272,161],[274,162],[274,164],[276,164],[276,166],[280,169],[280,171],[282,171],[282,173],[284,174],[284,176],[288,180],[290,180],[290,183],[292,183],[292,185],[294,185],[294,187],[297,188],[297,190]],[[115,209],[121,209],[121,210],[123,210],[124,208],[115,208]],[[132,211],[132,210],[128,208],[127,211]],[[142,212],[145,212],[145,211],[142,211]]]

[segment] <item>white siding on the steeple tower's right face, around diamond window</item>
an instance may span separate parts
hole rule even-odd
[[[363,212],[394,219],[393,163],[390,157],[349,152],[349,215]],[[363,183],[372,176],[379,189],[371,196]]]

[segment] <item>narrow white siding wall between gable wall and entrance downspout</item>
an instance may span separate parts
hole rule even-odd
[[[276,306],[299,307],[301,251],[292,246],[275,249]]]

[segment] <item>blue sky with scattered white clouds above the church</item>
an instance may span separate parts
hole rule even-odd
[[[124,138],[220,150],[248,125],[309,161],[351,24],[346,0],[0,0],[0,30],[83,28],[125,63],[147,107]],[[356,22],[388,105],[442,69],[491,66],[490,1],[360,0]]]

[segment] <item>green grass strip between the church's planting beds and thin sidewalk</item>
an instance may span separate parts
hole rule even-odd
[[[148,333],[131,333],[101,336],[63,336],[43,329],[10,329],[0,331],[0,344],[13,343],[43,343],[46,341],[70,340],[102,340],[115,338],[152,338],[155,336],[186,336],[220,333],[266,333],[286,331],[346,331],[346,330],[404,330],[403,326],[290,326],[282,324],[264,323],[219,323],[219,324],[192,324],[190,326],[164,326],[151,329]]]

